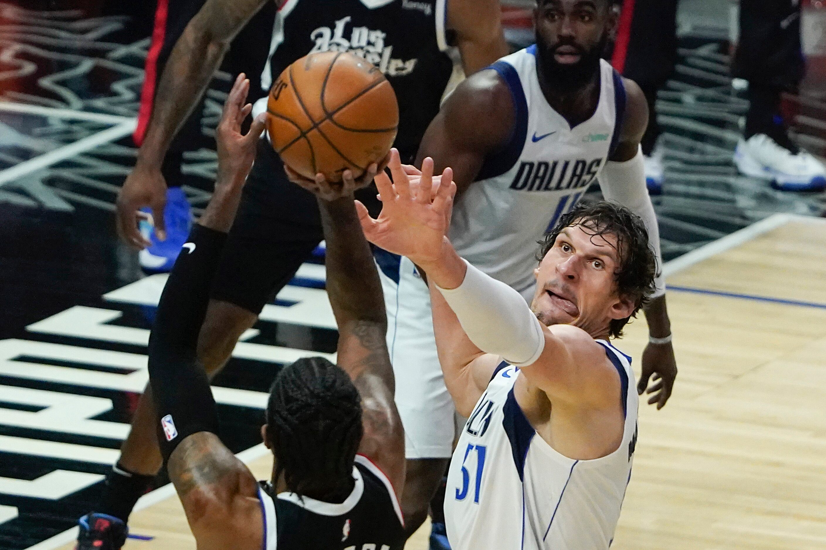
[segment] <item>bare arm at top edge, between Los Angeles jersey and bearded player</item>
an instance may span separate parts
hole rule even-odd
[[[448,27],[456,33],[462,68],[468,76],[508,54],[499,0],[450,0]]]

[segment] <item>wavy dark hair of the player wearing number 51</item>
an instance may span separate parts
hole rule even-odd
[[[617,292],[620,296],[633,299],[636,306],[634,313],[629,317],[611,320],[609,335],[619,338],[622,336],[623,327],[631,317],[637,317],[637,312],[648,303],[648,296],[655,289],[657,257],[648,244],[648,230],[643,219],[619,204],[604,200],[594,204],[578,204],[577,208],[564,214],[558,223],[545,233],[544,239],[539,241],[537,259],[542,261],[564,228],[577,225],[591,234],[591,240],[602,235],[614,235],[617,239],[619,269],[614,274]]]

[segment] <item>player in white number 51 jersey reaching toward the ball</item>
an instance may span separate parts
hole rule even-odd
[[[602,202],[544,238],[530,307],[458,255],[444,185],[411,186],[391,162],[370,242],[426,270],[444,381],[468,417],[444,515],[455,550],[607,550],[631,476],[638,397],[610,338],[643,306],[656,262],[643,221]],[[534,247],[535,251],[535,247]],[[534,262],[534,266],[536,266]]]

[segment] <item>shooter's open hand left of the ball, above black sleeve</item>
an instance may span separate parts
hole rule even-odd
[[[218,177],[216,188],[235,184],[243,186],[250,168],[255,160],[255,147],[263,132],[266,114],[255,117],[246,135],[241,134],[241,124],[252,112],[253,106],[247,103],[249,79],[244,73],[235,78],[226,97],[224,112],[215,131],[218,149]]]

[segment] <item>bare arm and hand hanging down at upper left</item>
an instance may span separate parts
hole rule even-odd
[[[152,208],[159,236],[163,235],[166,182],[160,169],[169,143],[207,88],[230,41],[268,1],[207,0],[172,49],[135,168],[117,197],[117,229],[127,244],[150,244],[137,228],[138,210],[145,206]]]

